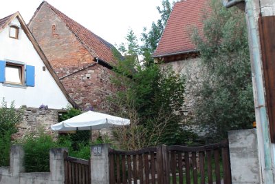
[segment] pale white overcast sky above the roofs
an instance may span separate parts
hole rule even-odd
[[[0,19],[19,11],[26,23],[42,0],[1,0]],[[140,37],[159,19],[162,0],[47,0],[52,6],[112,44],[124,41],[129,28]],[[172,0],[171,0],[172,2]]]

